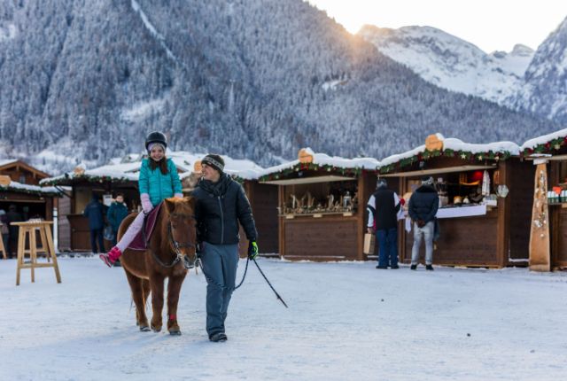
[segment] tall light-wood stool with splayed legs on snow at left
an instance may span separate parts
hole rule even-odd
[[[16,285],[19,285],[19,270],[21,268],[31,268],[32,282],[35,282],[35,268],[54,268],[57,283],[61,283],[61,275],[55,256],[55,248],[53,247],[53,239],[51,238],[52,221],[32,221],[32,222],[12,222],[12,225],[19,227],[18,237],[18,270],[16,274]],[[37,246],[35,232],[39,229],[41,246]],[[29,248],[26,249],[26,240],[29,242]],[[48,263],[37,263],[37,253],[45,253]],[[26,254],[29,254],[29,263],[24,263]],[[50,260],[53,260],[50,262]]]

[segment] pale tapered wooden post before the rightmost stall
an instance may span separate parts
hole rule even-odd
[[[549,213],[547,160],[536,159],[535,187],[533,192],[532,229],[530,234],[530,269],[549,271]]]

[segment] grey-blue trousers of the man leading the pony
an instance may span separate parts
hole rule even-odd
[[[224,332],[224,321],[237,277],[238,245],[205,242],[201,263],[207,276],[206,332],[210,338],[214,333]]]

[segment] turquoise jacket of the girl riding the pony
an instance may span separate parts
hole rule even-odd
[[[157,206],[164,198],[174,197],[182,193],[181,180],[172,159],[167,159],[167,175],[162,175],[159,167],[151,170],[149,159],[142,160],[138,187],[140,194],[148,193],[151,204]]]

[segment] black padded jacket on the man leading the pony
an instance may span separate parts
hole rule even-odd
[[[214,245],[233,245],[240,240],[238,222],[250,241],[258,238],[252,207],[242,186],[229,175],[221,175],[217,183],[201,180],[192,192],[197,198],[198,241]]]

